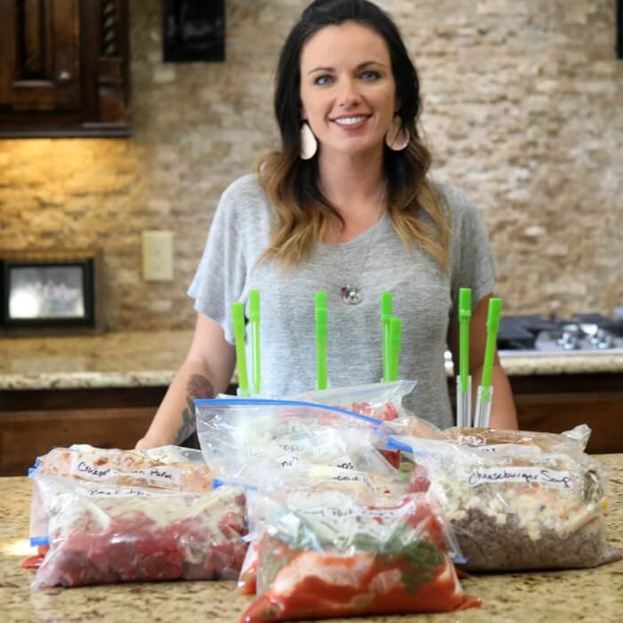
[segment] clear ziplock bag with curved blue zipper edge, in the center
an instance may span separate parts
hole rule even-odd
[[[270,459],[274,469],[300,461],[334,461],[346,451],[349,431],[369,440],[368,447],[386,436],[380,420],[311,402],[201,399],[195,402],[195,411],[206,462],[220,475],[247,483],[255,482],[260,460]],[[358,460],[368,458],[360,452]]]

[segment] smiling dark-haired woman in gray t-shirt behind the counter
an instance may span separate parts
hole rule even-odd
[[[401,378],[413,412],[452,424],[444,347],[457,361],[457,292],[471,287],[470,361],[480,378],[493,267],[486,233],[457,189],[426,178],[417,72],[392,20],[365,0],[316,0],[287,37],[274,100],[281,150],[231,184],[189,294],[190,352],[137,447],[180,442],[192,398],[223,392],[235,364],[231,303],[262,293],[263,394],[314,387],[314,292],[328,297],[332,386],[382,376],[380,295],[403,320]],[[515,428],[496,359],[491,425]]]

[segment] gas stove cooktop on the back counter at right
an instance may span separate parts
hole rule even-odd
[[[506,356],[623,354],[623,324],[600,314],[506,316],[500,320],[498,351]]]

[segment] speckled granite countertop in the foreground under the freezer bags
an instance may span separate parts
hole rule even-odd
[[[602,455],[611,470],[608,536],[623,547],[623,455]],[[21,621],[237,621],[251,598],[235,583],[167,582],[30,591],[32,571],[20,568],[28,554],[28,478],[0,478],[0,619]],[[623,561],[597,569],[483,574],[463,580],[465,592],[481,597],[480,608],[448,614],[367,617],[344,623],[584,623],[620,621]]]

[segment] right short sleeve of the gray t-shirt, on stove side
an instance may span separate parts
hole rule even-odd
[[[452,307],[450,325],[458,322],[458,290],[472,290],[472,309],[493,292],[495,264],[489,235],[473,202],[457,188],[444,185],[443,193],[451,211],[450,285]]]

